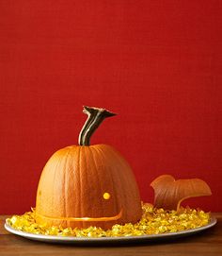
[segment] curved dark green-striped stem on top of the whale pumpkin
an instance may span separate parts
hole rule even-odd
[[[106,117],[116,115],[116,113],[94,107],[84,106],[84,113],[87,113],[87,121],[79,134],[79,145],[90,145],[92,133],[100,126]]]

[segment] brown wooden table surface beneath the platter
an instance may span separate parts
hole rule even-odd
[[[0,216],[0,255],[222,255],[222,213],[213,213],[217,224],[198,234],[164,242],[135,245],[76,246],[35,242],[9,233],[4,228],[7,215]]]

